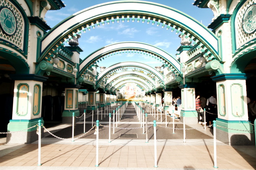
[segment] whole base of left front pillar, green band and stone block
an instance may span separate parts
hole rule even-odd
[[[15,132],[38,124],[38,120],[41,119],[41,123],[44,124],[43,118],[32,119],[32,120],[10,120],[7,131]],[[6,136],[6,143],[32,143],[38,140],[36,134],[37,126],[21,132],[8,133]],[[41,138],[44,137],[44,129],[41,126]]]

